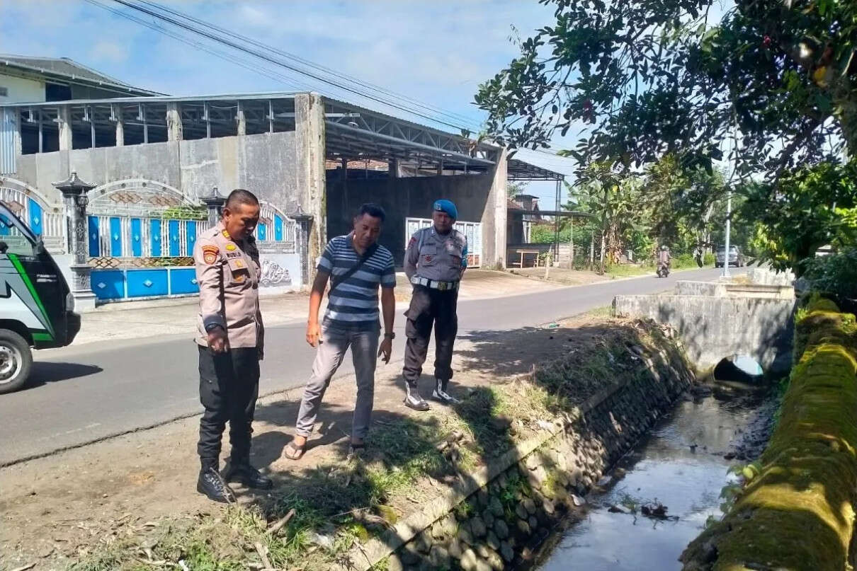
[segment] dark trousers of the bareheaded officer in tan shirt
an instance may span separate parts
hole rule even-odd
[[[253,414],[259,396],[259,350],[231,348],[215,354],[200,349],[200,401],[206,412],[200,420],[200,442],[196,451],[203,467],[217,467],[220,439],[229,422],[231,464],[249,461]]]

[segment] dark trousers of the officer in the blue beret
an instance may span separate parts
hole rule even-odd
[[[425,286],[414,286],[408,323],[405,325],[405,380],[416,384],[423,373],[428,353],[428,340],[434,326],[434,378],[448,381],[452,378],[452,344],[458,334],[458,289],[439,291]]]

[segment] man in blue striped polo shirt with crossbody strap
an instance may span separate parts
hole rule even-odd
[[[384,362],[389,363],[393,351],[393,317],[396,310],[393,288],[396,286],[396,273],[393,269],[393,254],[377,243],[385,216],[379,205],[361,206],[354,217],[351,233],[333,238],[321,255],[318,274],[309,296],[307,324],[307,342],[312,347],[318,347],[318,352],[297,413],[297,434],[285,448],[285,457],[291,460],[297,460],[303,455],[307,438],[315,425],[321,398],[349,347],[357,375],[357,402],[354,405],[349,453],[363,448],[375,397],[375,364],[381,354],[384,355]],[[331,288],[327,312],[320,326],[319,307],[328,279]],[[379,286],[384,314],[384,341],[380,349]]]

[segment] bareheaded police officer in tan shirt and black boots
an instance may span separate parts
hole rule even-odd
[[[226,199],[223,217],[196,240],[194,261],[200,286],[199,335],[201,470],[196,490],[216,502],[235,501],[228,482],[272,487],[250,465],[250,435],[259,395],[264,327],[259,309],[259,251],[253,232],[259,200],[243,189]],[[220,440],[229,422],[229,469],[219,473]]]

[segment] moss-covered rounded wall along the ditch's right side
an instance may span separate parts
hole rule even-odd
[[[732,508],[681,556],[686,570],[851,568],[857,327],[853,315],[818,298],[795,327],[796,365],[770,443],[743,469]]]

